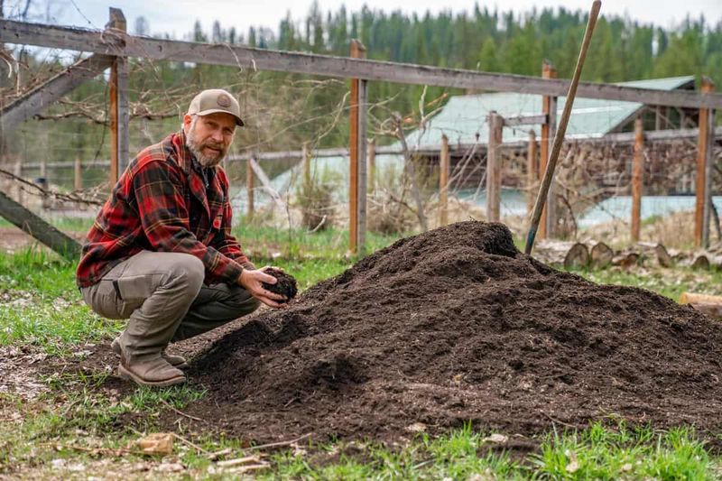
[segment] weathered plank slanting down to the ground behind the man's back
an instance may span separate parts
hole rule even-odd
[[[63,257],[74,258],[80,254],[79,243],[45,222],[42,217],[24,208],[22,204],[10,199],[0,191],[0,216],[5,217],[23,232],[47,245]]]

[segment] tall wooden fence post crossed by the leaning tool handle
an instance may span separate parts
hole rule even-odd
[[[557,70],[549,61],[544,61],[542,64],[542,78],[543,79],[556,79]],[[539,140],[539,173],[544,175],[547,170],[547,164],[549,163],[549,156],[551,154],[551,143],[554,139],[554,134],[557,129],[557,97],[544,96],[542,97],[542,114],[546,116],[547,121],[542,124],[542,138]],[[549,195],[542,211],[542,220],[539,223],[538,236],[540,238],[553,237],[554,226],[556,226],[556,199],[554,198],[554,184],[551,183],[549,187]]]

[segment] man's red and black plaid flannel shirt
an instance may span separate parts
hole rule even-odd
[[[142,250],[195,255],[206,266],[206,283],[235,283],[244,267],[253,268],[231,235],[226,172],[207,172],[208,187],[182,131],[139,153],[90,227],[78,285],[98,282]]]

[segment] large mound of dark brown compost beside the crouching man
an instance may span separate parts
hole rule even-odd
[[[202,353],[189,406],[246,439],[391,439],[606,416],[722,428],[722,328],[521,254],[502,224],[404,238]]]

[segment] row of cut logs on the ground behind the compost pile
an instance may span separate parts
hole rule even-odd
[[[545,264],[568,270],[605,268],[610,265],[624,269],[634,266],[672,267],[692,269],[722,269],[722,246],[708,251],[680,251],[662,244],[639,242],[615,250],[601,241],[582,242],[544,239],[534,246],[534,257]]]

